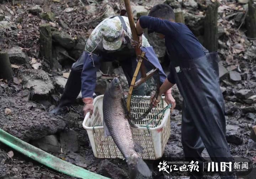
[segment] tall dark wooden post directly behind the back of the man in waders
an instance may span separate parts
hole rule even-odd
[[[219,2],[215,1],[207,7],[204,19],[204,47],[210,52],[218,49],[218,7]]]

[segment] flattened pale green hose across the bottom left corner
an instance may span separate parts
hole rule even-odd
[[[0,142],[49,168],[67,174],[71,177],[82,179],[109,179],[61,160],[60,158],[57,158],[23,140],[16,138],[15,136],[12,136],[11,134],[8,134],[2,129],[0,129]]]

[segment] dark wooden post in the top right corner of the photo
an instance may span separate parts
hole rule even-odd
[[[254,0],[249,0],[246,26],[247,37],[256,38],[256,4],[254,4]]]

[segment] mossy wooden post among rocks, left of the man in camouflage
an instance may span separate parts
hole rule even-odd
[[[49,62],[49,65],[53,67],[52,33],[50,24],[42,24],[40,26],[40,54]]]

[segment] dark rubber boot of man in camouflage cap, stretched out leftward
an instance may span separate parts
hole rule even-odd
[[[49,111],[49,113],[58,115],[65,114],[69,111],[69,107],[75,102],[81,91],[81,73],[82,68],[71,69],[58,106],[52,111]]]

